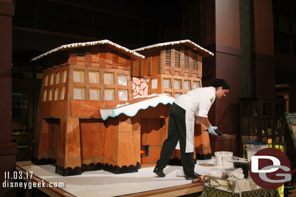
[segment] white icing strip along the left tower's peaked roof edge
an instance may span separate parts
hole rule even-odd
[[[104,44],[108,44],[108,45],[112,45],[112,46],[115,46],[116,48],[120,49],[120,50],[123,50],[123,51],[126,51],[128,53],[131,53],[132,55],[134,56],[137,56],[139,58],[142,58],[144,59],[145,56],[141,55],[141,54],[138,54],[136,53],[135,51],[132,51],[124,46],[121,46],[121,45],[117,45],[109,40],[100,40],[100,41],[94,41],[94,42],[86,42],[86,43],[72,43],[72,44],[69,44],[69,45],[62,45],[60,47],[57,47],[57,48],[54,48],[46,53],[43,53],[33,59],[31,59],[30,61],[35,61],[35,60],[38,60],[40,58],[43,58],[51,53],[54,53],[54,52],[57,52],[57,51],[60,51],[60,50],[63,50],[63,49],[67,49],[67,48],[75,48],[75,47],[79,47],[79,46],[90,46],[90,45],[104,45]]]

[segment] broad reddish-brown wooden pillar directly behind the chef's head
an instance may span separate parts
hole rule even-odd
[[[210,135],[212,154],[216,151],[239,152],[239,104],[241,97],[241,48],[239,0],[204,1],[205,48],[214,57],[203,59],[203,86],[210,86],[214,78],[230,84],[225,98],[216,98],[209,111],[209,120],[218,127],[221,137]]]

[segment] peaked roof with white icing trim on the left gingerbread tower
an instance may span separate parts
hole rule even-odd
[[[123,53],[123,54],[126,54],[134,59],[144,59],[145,56],[143,55],[140,55],[138,54],[137,52],[135,51],[132,51],[124,46],[121,46],[121,45],[117,45],[109,40],[100,40],[100,41],[94,41],[94,42],[86,42],[86,43],[72,43],[72,44],[69,44],[69,45],[62,45],[60,47],[57,47],[57,48],[54,48],[46,53],[43,53],[33,59],[31,59],[30,61],[36,61],[36,60],[39,60],[41,58],[44,58],[46,56],[48,56],[49,54],[52,54],[52,53],[56,53],[58,51],[63,51],[63,50],[66,50],[66,49],[69,49],[69,48],[77,48],[77,47],[82,47],[82,46],[94,46],[94,45],[107,45],[109,48],[112,48],[120,53]]]

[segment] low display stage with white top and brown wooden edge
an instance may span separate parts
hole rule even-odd
[[[199,164],[209,164],[200,166]],[[218,168],[215,160],[197,160],[195,171],[206,175]],[[113,174],[104,170],[83,172],[82,175],[63,177],[55,173],[51,165],[36,166],[30,161],[17,162],[16,169],[24,175],[33,172],[32,179],[26,182],[47,182],[48,187],[37,189],[52,197],[172,197],[201,192],[202,183],[192,183],[182,176],[182,167],[167,166],[166,176],[159,178],[152,171],[154,167],[145,167],[138,172]],[[64,187],[49,187],[49,182],[63,182]]]

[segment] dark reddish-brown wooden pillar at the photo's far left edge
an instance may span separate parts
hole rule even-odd
[[[16,170],[17,144],[12,144],[11,122],[11,62],[12,62],[12,18],[15,14],[13,0],[0,0],[0,182],[3,183],[4,172]],[[11,181],[11,180],[9,180]],[[14,196],[13,188],[0,185],[0,196]]]

